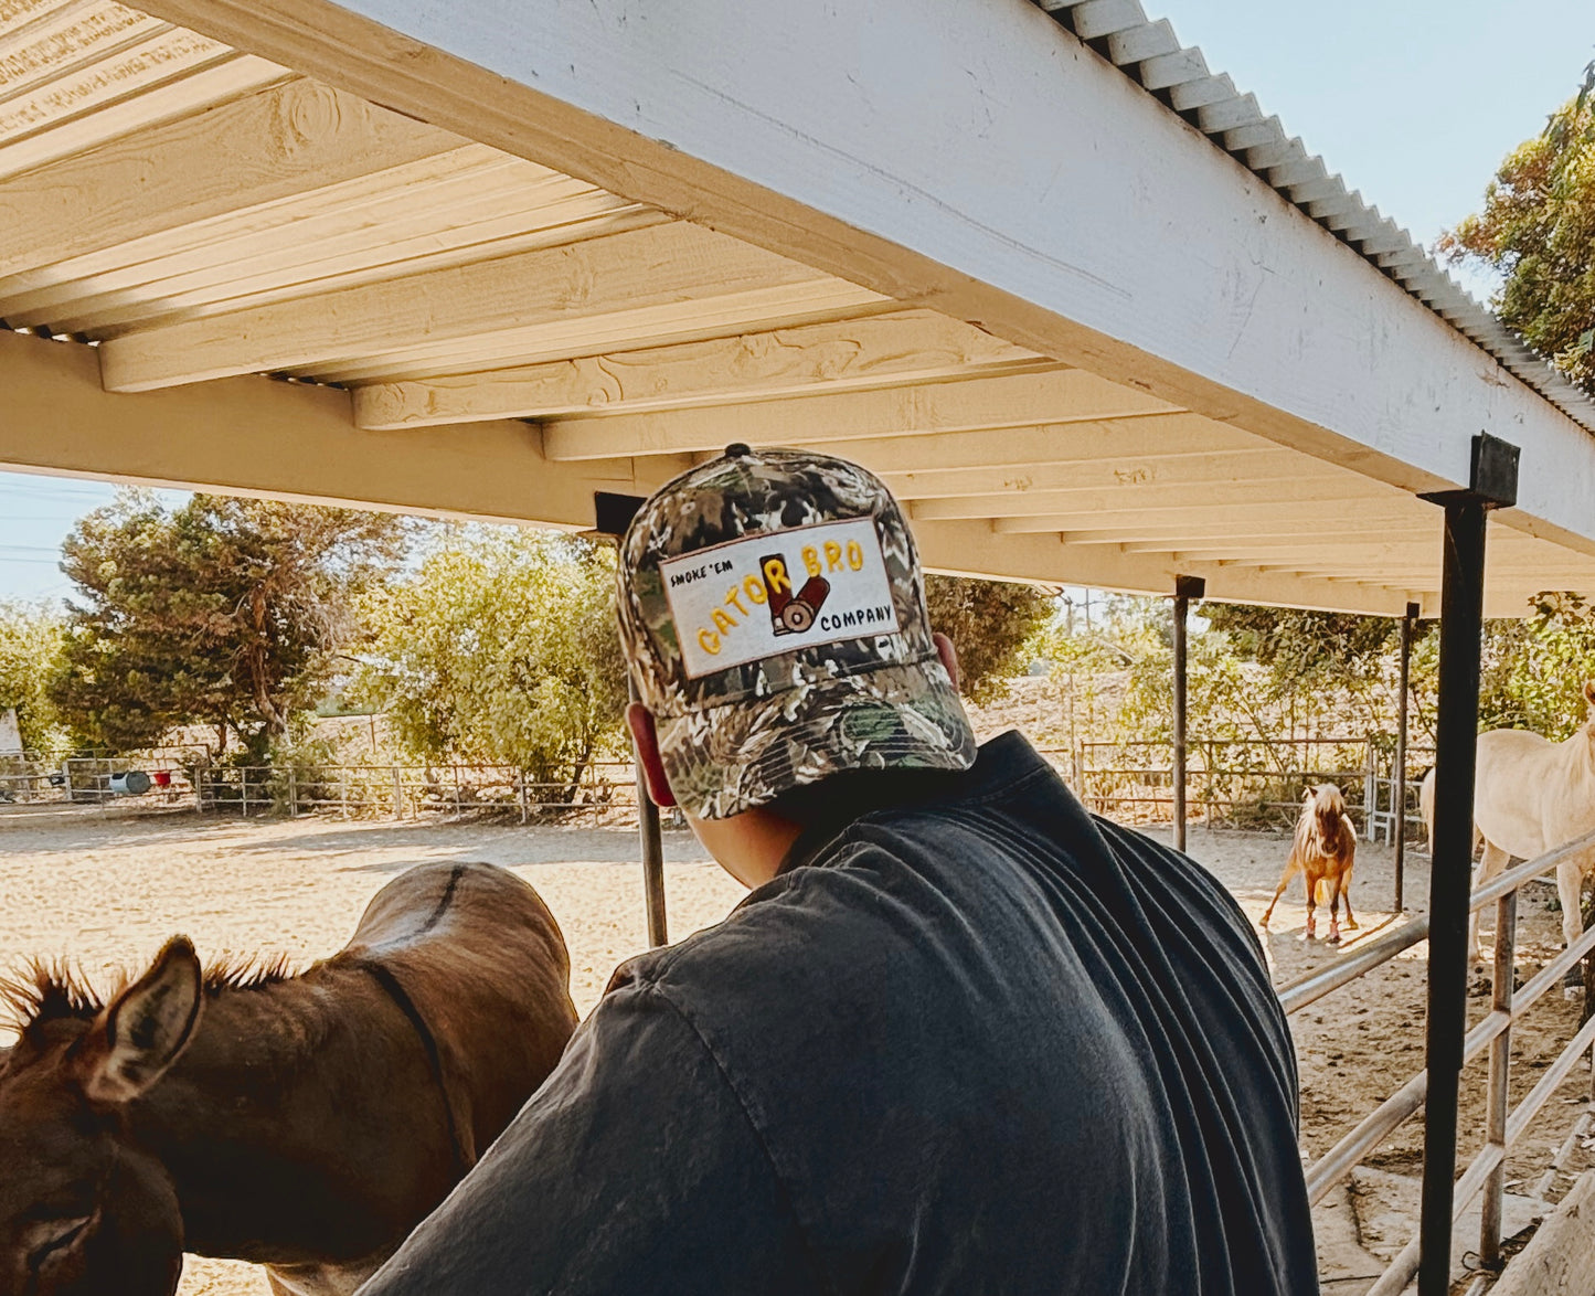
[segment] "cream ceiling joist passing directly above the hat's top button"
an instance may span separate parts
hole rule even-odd
[[[829,444],[1169,412],[1172,407],[1164,401],[1072,369],[692,410],[553,418],[542,426],[542,444],[549,458],[582,460],[617,453],[718,452],[734,441],[750,445]]]

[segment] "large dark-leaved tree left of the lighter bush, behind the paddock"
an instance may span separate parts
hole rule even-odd
[[[204,723],[265,760],[325,688],[354,597],[405,536],[384,514],[212,495],[169,509],[121,492],[62,544],[77,594],[51,697],[88,745]]]

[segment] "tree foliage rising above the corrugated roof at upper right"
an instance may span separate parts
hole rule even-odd
[[[1595,381],[1595,62],[1581,93],[1501,163],[1485,206],[1440,238],[1502,276],[1496,313],[1574,380]]]

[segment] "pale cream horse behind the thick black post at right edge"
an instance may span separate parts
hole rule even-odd
[[[1565,742],[1550,742],[1526,729],[1491,729],[1479,734],[1479,766],[1474,776],[1474,844],[1485,852],[1474,871],[1474,887],[1495,878],[1514,859],[1531,860],[1595,830],[1595,683],[1584,685],[1589,713]],[[1434,843],[1434,771],[1418,788],[1423,822]],[[1595,849],[1557,865],[1562,897],[1562,935],[1571,945],[1584,932],[1579,916],[1579,883],[1595,868]],[[1467,923],[1467,943],[1479,954],[1479,911]],[[1576,998],[1584,974],[1574,967],[1563,980]]]

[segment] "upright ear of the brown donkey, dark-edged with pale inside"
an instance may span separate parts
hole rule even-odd
[[[188,1047],[201,1001],[195,946],[172,937],[83,1037],[75,1065],[89,1100],[129,1103],[145,1093]]]

